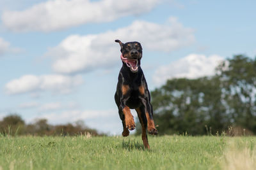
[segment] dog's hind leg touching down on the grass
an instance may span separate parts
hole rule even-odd
[[[143,141],[143,145],[145,148],[150,149],[150,146],[148,145],[148,137],[147,137],[147,118],[145,116],[145,108],[144,106],[141,106],[140,108],[136,108],[136,112],[138,114],[138,118],[140,120],[142,134],[141,138]]]

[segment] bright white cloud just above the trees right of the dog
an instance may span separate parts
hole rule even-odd
[[[198,78],[214,75],[214,69],[224,60],[220,55],[206,57],[190,54],[166,66],[159,67],[153,75],[156,85],[163,85],[170,78]]]

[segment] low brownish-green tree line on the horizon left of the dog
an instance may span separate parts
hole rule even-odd
[[[84,125],[83,121],[75,124],[51,125],[47,119],[38,119],[32,124],[26,124],[19,115],[10,114],[0,121],[0,135],[33,135],[33,136],[74,136],[74,135],[104,136],[95,129]]]

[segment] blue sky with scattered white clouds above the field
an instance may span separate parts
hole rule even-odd
[[[84,124],[122,133],[114,101],[122,42],[143,46],[148,88],[211,76],[256,55],[256,1],[0,0],[0,120]],[[136,112],[132,111],[136,118]]]

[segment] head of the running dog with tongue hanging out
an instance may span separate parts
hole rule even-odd
[[[122,61],[133,73],[136,73],[140,66],[140,59],[142,57],[142,47],[140,43],[137,41],[122,43],[118,39],[115,41],[121,46]]]

